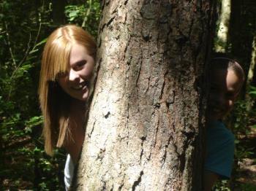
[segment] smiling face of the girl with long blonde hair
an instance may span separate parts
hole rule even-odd
[[[58,77],[59,85],[72,98],[86,101],[93,71],[94,58],[88,54],[86,47],[74,44],[70,52],[69,72]]]

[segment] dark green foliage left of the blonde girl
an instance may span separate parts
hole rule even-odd
[[[37,156],[45,158],[35,155],[37,149],[43,152],[37,84],[45,41],[39,39],[50,24],[50,10],[37,1],[1,1],[0,9],[1,188],[39,188],[40,179],[47,177],[35,171],[43,171]],[[45,184],[50,187],[51,180]]]

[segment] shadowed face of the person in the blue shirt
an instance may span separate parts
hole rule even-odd
[[[207,117],[221,120],[233,108],[241,89],[241,80],[232,69],[214,69],[210,75]]]

